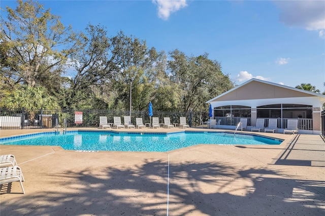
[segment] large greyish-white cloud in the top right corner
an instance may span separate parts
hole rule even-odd
[[[300,27],[307,30],[325,29],[324,1],[274,1],[281,9],[280,21],[290,27]],[[323,35],[323,31],[319,32]]]

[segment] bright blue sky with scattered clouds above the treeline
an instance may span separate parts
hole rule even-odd
[[[325,1],[39,1],[64,25],[122,30],[166,53],[208,53],[239,85],[250,78],[325,90]],[[1,7],[16,8],[15,1]]]

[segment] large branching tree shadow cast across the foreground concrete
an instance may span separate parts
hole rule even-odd
[[[324,182],[268,169],[155,160],[51,175],[55,191],[2,200],[1,215],[324,215]],[[39,183],[42,185],[42,179]],[[38,187],[36,185],[36,187]]]

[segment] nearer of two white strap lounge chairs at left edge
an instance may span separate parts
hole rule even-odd
[[[25,193],[22,187],[24,177],[19,166],[8,166],[0,168],[0,185],[12,182],[20,182],[22,192]]]

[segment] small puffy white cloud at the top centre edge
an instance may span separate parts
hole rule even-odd
[[[186,0],[152,0],[158,6],[158,17],[167,20],[171,13],[187,6]]]

